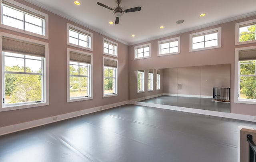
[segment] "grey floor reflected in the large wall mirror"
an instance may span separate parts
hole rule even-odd
[[[177,97],[163,95],[151,99],[142,100],[140,102],[230,113],[230,103],[214,102],[212,101],[212,99],[208,98]]]

